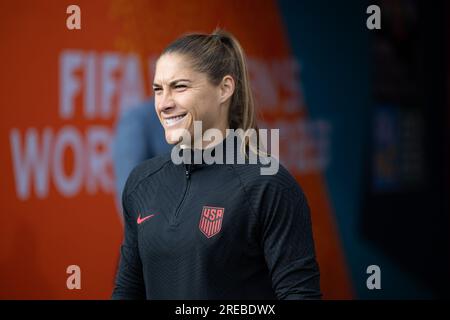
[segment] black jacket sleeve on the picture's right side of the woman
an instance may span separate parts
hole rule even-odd
[[[278,299],[320,299],[310,209],[301,189],[273,192],[263,210],[262,246]]]

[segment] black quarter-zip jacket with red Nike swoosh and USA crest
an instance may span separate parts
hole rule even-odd
[[[170,153],[138,165],[112,298],[320,298],[306,197],[282,165],[262,166],[174,164]]]

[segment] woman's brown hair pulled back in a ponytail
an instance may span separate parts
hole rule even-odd
[[[228,125],[244,131],[258,129],[244,50],[231,33],[216,29],[211,34],[187,34],[172,42],[161,55],[165,53],[187,55],[194,70],[205,73],[214,85],[219,85],[226,75],[233,77],[235,90]]]

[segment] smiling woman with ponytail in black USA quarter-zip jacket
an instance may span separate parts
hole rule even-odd
[[[166,140],[183,139],[190,151],[240,150],[230,135],[207,145],[194,134],[186,143],[193,120],[223,136],[257,128],[244,53],[225,31],[170,44],[154,92]],[[225,164],[176,164],[173,155],[140,164],[127,180],[113,299],[321,297],[309,207],[286,169],[261,175],[262,164],[239,164],[228,153]]]

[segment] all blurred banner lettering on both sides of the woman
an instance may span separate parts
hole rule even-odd
[[[16,193],[19,199],[46,198],[50,185],[64,197],[82,190],[89,194],[112,193],[114,176],[110,146],[112,128],[99,120],[114,120],[126,109],[144,100],[141,70],[153,79],[156,56],[144,68],[134,54],[100,53],[67,49],[60,53],[57,116],[58,129],[11,128],[10,144]],[[265,126],[280,129],[280,157],[296,172],[323,170],[330,161],[329,131],[326,121],[295,120],[304,108],[298,79],[299,65],[293,58],[262,60],[249,58],[249,73],[255,98],[268,115],[288,115]],[[279,113],[278,108],[283,112]],[[69,121],[86,120],[83,128]],[[269,124],[269,123],[267,123]],[[264,125],[260,125],[263,128]],[[283,141],[287,139],[288,141]],[[270,143],[271,139],[268,139]],[[65,167],[65,155],[73,154],[73,166]]]

